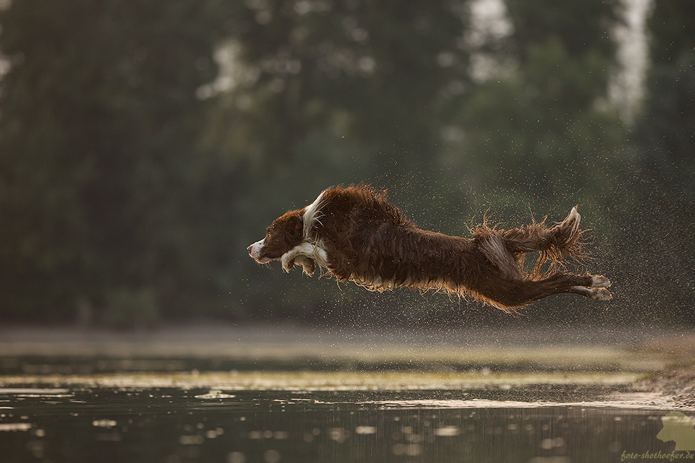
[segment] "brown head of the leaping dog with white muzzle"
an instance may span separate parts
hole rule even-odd
[[[265,264],[271,260],[279,260],[284,253],[293,249],[304,239],[302,220],[303,210],[286,212],[266,229],[265,238],[247,248],[249,255]]]

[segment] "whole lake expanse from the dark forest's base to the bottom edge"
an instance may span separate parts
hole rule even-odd
[[[666,361],[635,349],[653,332],[522,334],[3,332],[0,462],[569,463],[674,451],[657,438],[673,404],[633,387]]]

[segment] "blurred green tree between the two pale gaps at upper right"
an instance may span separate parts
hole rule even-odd
[[[445,153],[448,165],[464,178],[475,171],[473,185],[505,188],[533,210],[555,207],[568,190],[584,201],[600,193],[605,182],[596,163],[614,156],[627,134],[606,102],[614,7],[508,0],[513,31],[486,53],[515,64],[465,95],[461,140],[447,148],[460,154]],[[482,165],[488,169],[475,167]]]

